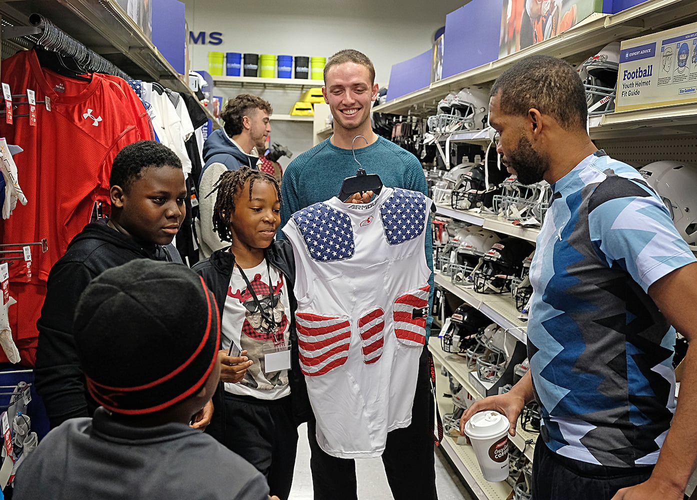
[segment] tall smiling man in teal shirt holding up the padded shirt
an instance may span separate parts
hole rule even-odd
[[[342,50],[330,57],[324,68],[323,94],[334,116],[334,134],[302,153],[286,169],[282,184],[281,226],[291,214],[339,194],[346,177],[354,176],[360,162],[369,174],[378,174],[383,185],[427,194],[419,160],[392,142],[378,137],[370,123],[371,104],[378,84],[370,59],[356,50]],[[362,135],[363,139],[355,137]],[[353,151],[352,151],[353,149]],[[426,257],[432,265],[431,235],[427,232]],[[431,300],[433,276],[429,279]],[[427,331],[430,328],[430,318]],[[412,421],[408,427],[388,434],[383,464],[395,499],[435,499],[434,443],[429,434],[433,400],[429,386],[429,356],[424,347],[413,397]],[[355,464],[351,459],[325,453],[317,444],[315,424],[308,425],[312,457],[314,497],[356,499]]]

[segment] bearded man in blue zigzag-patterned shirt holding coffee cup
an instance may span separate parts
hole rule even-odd
[[[583,84],[560,59],[528,57],[491,89],[503,163],[521,183],[549,182],[553,203],[530,268],[530,372],[461,428],[496,409],[514,434],[534,397],[535,500],[678,500],[697,455],[697,347],[677,408],[671,362],[675,328],[696,335],[697,264],[660,197],[595,147],[586,120]]]

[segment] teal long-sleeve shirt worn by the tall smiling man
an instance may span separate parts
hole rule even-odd
[[[355,159],[367,174],[378,174],[383,185],[390,188],[403,188],[419,191],[428,196],[428,185],[421,162],[412,153],[401,149],[383,137],[369,146],[355,150]],[[281,228],[286,225],[291,215],[317,202],[324,202],[339,195],[342,182],[346,177],[355,175],[358,164],[353,160],[351,149],[334,146],[330,139],[293,160],[283,175],[281,195],[281,225],[278,237],[284,238]],[[431,231],[426,232],[426,261],[431,269],[429,285],[429,309],[433,305],[433,243]],[[427,342],[433,318],[429,315],[426,324]]]

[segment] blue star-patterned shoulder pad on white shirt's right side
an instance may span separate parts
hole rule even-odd
[[[380,215],[390,245],[413,240],[424,231],[426,197],[422,192],[395,188],[381,205]]]

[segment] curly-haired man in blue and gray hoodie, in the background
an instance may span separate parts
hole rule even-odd
[[[196,222],[201,258],[219,250],[222,242],[213,230],[213,207],[216,194],[213,185],[226,170],[242,165],[259,169],[259,153],[266,150],[266,137],[271,132],[271,105],[260,97],[240,94],[225,105],[220,118],[224,128],[215,130],[204,142],[204,168],[199,182],[199,220]]]

